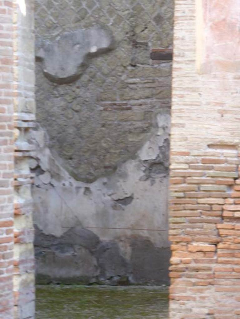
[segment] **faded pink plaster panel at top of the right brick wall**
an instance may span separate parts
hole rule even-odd
[[[240,1],[203,0],[208,70],[240,71]]]

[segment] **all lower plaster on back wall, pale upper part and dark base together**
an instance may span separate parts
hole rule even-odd
[[[147,279],[155,284],[166,282],[166,263],[160,277],[155,272],[157,268],[151,272],[147,262],[144,264],[144,260],[152,258],[161,269],[163,261],[159,256],[167,258],[164,252],[169,247],[166,232],[168,176],[167,170],[159,174],[156,168],[161,161],[166,167],[168,165],[164,153],[167,153],[169,134],[165,121],[159,126],[163,133],[159,136],[156,131],[135,159],[128,160],[118,167],[116,173],[94,183],[74,180],[59,165],[46,144],[43,148],[36,147],[38,166],[32,172],[40,176],[51,172],[49,184],[37,176],[33,187],[39,282],[112,285],[146,283]],[[32,134],[39,145],[38,135],[41,134],[35,132]],[[150,170],[152,165],[153,172]],[[146,175],[144,182],[139,181]],[[149,246],[146,242],[150,243]],[[76,254],[82,254],[82,257]],[[82,264],[84,258],[91,270],[89,273],[88,267]],[[57,262],[62,267],[65,264],[73,267],[69,272],[71,277],[67,277],[67,271],[58,272],[60,266],[55,267]],[[140,269],[138,262],[142,263]],[[82,267],[79,272],[75,264]],[[146,275],[148,271],[149,275]]]

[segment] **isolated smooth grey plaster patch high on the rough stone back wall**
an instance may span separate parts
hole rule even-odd
[[[36,43],[36,57],[51,81],[64,84],[75,81],[87,68],[89,58],[113,48],[109,28],[94,26],[87,30],[66,32],[57,39]]]

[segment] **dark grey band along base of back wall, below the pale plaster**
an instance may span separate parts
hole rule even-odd
[[[130,260],[116,241],[101,241],[88,229],[76,226],[61,237],[35,228],[37,283],[163,285],[168,284],[169,248],[156,248],[141,236],[125,238]]]

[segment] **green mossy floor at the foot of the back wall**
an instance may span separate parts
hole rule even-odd
[[[167,319],[160,287],[37,286],[36,319]]]

